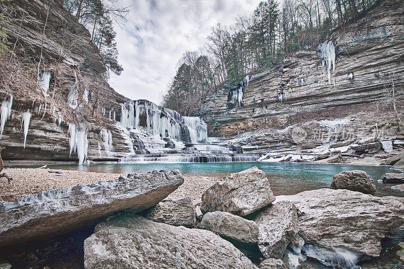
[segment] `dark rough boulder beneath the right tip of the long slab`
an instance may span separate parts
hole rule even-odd
[[[166,198],[148,210],[146,219],[173,226],[195,227],[195,207],[191,197]]]

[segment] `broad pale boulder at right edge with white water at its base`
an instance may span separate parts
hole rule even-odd
[[[331,251],[331,261],[341,265],[379,256],[380,241],[404,223],[402,202],[350,190],[304,191],[277,196],[280,201],[294,203],[301,212],[303,250],[313,245],[322,253]]]

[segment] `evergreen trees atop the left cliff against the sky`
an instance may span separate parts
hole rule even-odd
[[[75,16],[77,22],[88,29],[91,39],[98,47],[109,71],[120,75],[123,71],[118,63],[116,32],[113,21],[118,25],[125,22],[128,8],[116,7],[118,0],[63,0],[64,7]]]

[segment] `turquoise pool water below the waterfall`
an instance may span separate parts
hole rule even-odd
[[[305,190],[313,190],[328,187],[332,177],[347,170],[366,171],[376,182],[377,196],[395,195],[404,196],[392,190],[394,184],[380,184],[380,177],[389,172],[395,172],[388,167],[352,166],[336,164],[311,164],[311,163],[177,163],[177,164],[107,164],[107,165],[84,165],[84,166],[57,166],[58,169],[80,170],[89,172],[116,173],[126,175],[129,173],[145,173],[152,170],[178,169],[188,176],[223,177],[230,173],[240,172],[257,166],[262,169],[270,179],[271,188],[275,195],[295,194]]]

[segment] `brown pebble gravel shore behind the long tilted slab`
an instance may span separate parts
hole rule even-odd
[[[6,172],[13,177],[10,184],[6,178],[0,178],[0,200],[14,202],[16,198],[42,191],[71,188],[77,184],[92,184],[119,178],[119,174],[95,173],[75,170],[63,170],[63,174],[49,173],[48,169],[40,168],[7,168]],[[169,197],[191,196],[195,203],[200,201],[202,194],[219,178],[184,176],[184,184]]]

